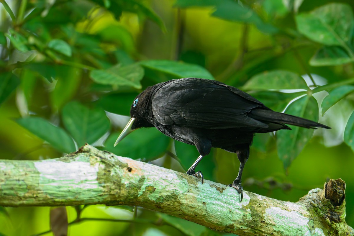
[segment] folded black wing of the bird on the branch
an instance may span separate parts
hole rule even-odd
[[[266,108],[257,99],[218,81],[185,78],[162,86],[152,98],[153,114],[162,125],[195,128],[267,128],[249,116]]]

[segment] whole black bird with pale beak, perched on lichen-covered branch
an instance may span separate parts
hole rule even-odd
[[[210,149],[235,152],[240,169],[232,186],[242,201],[241,175],[250,155],[255,133],[291,129],[330,127],[301,117],[273,111],[251,95],[215,80],[184,78],[162,82],[141,92],[130,109],[131,119],[114,146],[137,128],[156,127],[165,135],[195,145],[200,156],[187,174],[200,177],[195,167]]]

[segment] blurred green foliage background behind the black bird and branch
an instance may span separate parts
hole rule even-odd
[[[129,115],[135,96],[158,82],[216,79],[276,111],[332,127],[256,135],[244,189],[297,201],[328,179],[342,178],[346,220],[354,225],[353,1],[0,3],[1,158],[55,158],[87,142],[185,171],[198,156],[195,148],[153,128],[113,148],[127,119],[111,113]],[[207,179],[229,184],[239,162],[236,154],[215,149],[198,168]],[[67,207],[69,234],[219,235],[169,215],[131,210]],[[50,211],[0,207],[0,235],[52,235]],[[85,220],[78,223],[78,217]],[[136,223],[114,222],[132,218]]]

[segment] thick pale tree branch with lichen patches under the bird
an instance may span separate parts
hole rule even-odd
[[[0,160],[0,206],[141,206],[238,235],[354,235],[345,183],[330,180],[298,202],[235,189],[85,145],[58,159]]]

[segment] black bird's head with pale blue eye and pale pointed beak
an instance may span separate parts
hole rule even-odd
[[[116,146],[123,138],[134,130],[142,127],[153,127],[151,122],[152,111],[151,110],[151,95],[152,87],[148,87],[141,92],[131,104],[130,117],[131,119],[120,133],[118,139],[115,141]]]

